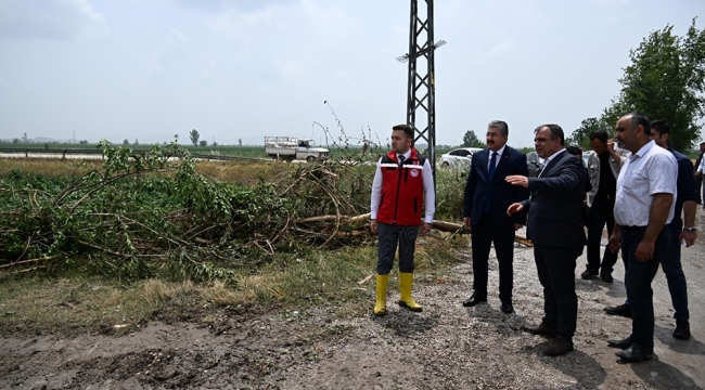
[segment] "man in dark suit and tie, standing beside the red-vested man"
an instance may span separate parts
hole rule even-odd
[[[465,184],[463,222],[472,234],[474,292],[463,306],[474,307],[487,302],[488,258],[493,243],[499,262],[501,310],[511,314],[514,312],[514,232],[526,224],[526,214],[510,217],[507,208],[515,202],[526,199],[528,190],[513,186],[504,178],[510,174],[528,176],[528,165],[526,155],[507,146],[507,122],[491,121],[486,136],[487,148],[473,155]]]

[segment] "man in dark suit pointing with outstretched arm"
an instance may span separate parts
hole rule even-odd
[[[542,125],[535,130],[534,145],[546,159],[538,178],[510,176],[507,181],[528,188],[531,198],[512,204],[512,216],[528,209],[526,235],[534,243],[534,258],[543,286],[543,320],[524,326],[534,335],[555,336],[543,351],[557,356],[573,351],[578,316],[575,264],[586,244],[580,207],[588,180],[582,161],[563,146],[563,129]]]

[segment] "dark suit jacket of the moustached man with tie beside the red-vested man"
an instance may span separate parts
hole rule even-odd
[[[505,146],[504,153],[497,162],[492,180],[488,179],[487,166],[490,159],[490,151],[473,154],[467,183],[465,183],[465,197],[463,202],[463,217],[470,217],[472,224],[477,224],[485,212],[485,200],[490,198],[490,214],[492,218],[504,218],[514,223],[526,224],[526,213],[521,212],[507,216],[509,205],[522,202],[529,195],[528,190],[520,185],[511,185],[504,178],[510,174],[528,177],[526,155],[522,152]]]

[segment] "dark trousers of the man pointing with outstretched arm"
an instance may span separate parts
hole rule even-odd
[[[543,286],[543,323],[566,340],[573,339],[578,318],[575,266],[582,246],[534,246],[539,282]]]

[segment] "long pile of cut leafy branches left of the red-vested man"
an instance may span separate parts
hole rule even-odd
[[[55,270],[228,278],[277,253],[369,239],[373,166],[282,165],[245,187],[211,180],[177,144],[144,154],[101,142],[106,159],[79,178],[0,178],[0,270]]]

